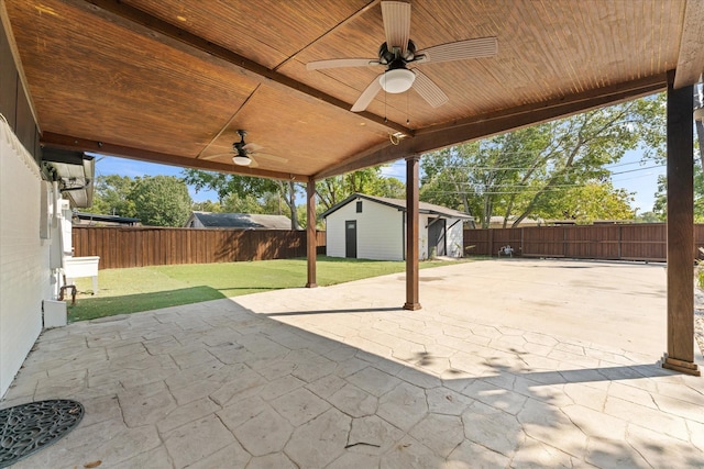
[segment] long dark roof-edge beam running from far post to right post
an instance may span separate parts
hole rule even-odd
[[[391,142],[372,147],[340,164],[330,166],[316,179],[324,179],[370,166],[382,165],[406,157],[409,154],[422,154],[462,142],[484,138],[491,135],[514,131],[558,118],[579,114],[591,109],[628,101],[667,89],[667,74],[632,80],[601,89],[590,90],[547,102],[537,102],[503,111],[491,112],[471,119],[418,131],[413,138],[404,138],[397,145]]]

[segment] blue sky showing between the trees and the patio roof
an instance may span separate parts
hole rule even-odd
[[[638,213],[652,210],[654,193],[658,189],[658,175],[664,175],[664,167],[651,168],[653,163],[640,164],[640,152],[628,152],[626,156],[616,165],[608,166],[612,172],[612,182],[616,188],[635,192],[635,201],[631,203]],[[140,161],[136,159],[118,158],[114,156],[96,155],[96,176],[120,175],[135,178],[138,176],[182,176],[183,168],[177,166],[157,165],[153,163]],[[393,165],[383,168],[383,175],[395,177],[402,181],[406,180],[406,164],[398,160]],[[213,191],[196,192],[189,188],[190,197],[196,202],[205,200],[218,200]]]

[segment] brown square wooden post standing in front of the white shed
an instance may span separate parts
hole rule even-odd
[[[418,165],[420,155],[406,158],[406,303],[404,310],[420,310],[418,302],[419,209]]]

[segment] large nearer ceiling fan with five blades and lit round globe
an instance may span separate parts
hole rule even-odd
[[[386,70],[372,80],[352,105],[354,112],[364,111],[382,89],[402,93],[411,87],[428,104],[438,108],[448,102],[448,96],[427,75],[408,65],[491,57],[498,49],[496,37],[477,37],[416,51],[416,44],[410,40],[410,3],[382,1],[382,19],[386,42],[378,48],[378,58],[334,58],[306,65],[309,70],[385,66]]]

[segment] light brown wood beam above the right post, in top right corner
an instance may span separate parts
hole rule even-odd
[[[674,89],[694,85],[704,72],[704,0],[688,0]]]

